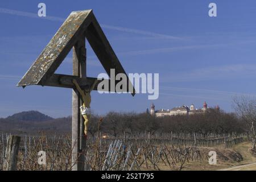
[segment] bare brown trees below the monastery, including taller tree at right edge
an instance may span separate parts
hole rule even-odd
[[[99,130],[117,135],[154,133],[197,133],[207,137],[210,134],[244,134],[251,138],[252,148],[256,142],[256,99],[242,96],[233,98],[234,113],[208,109],[204,114],[155,117],[148,113],[110,112],[104,117],[92,115],[89,133],[94,136]]]

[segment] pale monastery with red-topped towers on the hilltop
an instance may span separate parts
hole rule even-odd
[[[180,106],[180,107],[174,107],[172,109],[161,109],[161,110],[155,110],[155,105],[152,103],[150,106],[150,114],[155,115],[156,117],[163,117],[166,115],[182,115],[182,114],[202,114],[205,111],[207,111],[207,103],[204,101],[204,105],[201,109],[195,109],[195,106],[192,104],[189,106]],[[220,109],[220,107],[217,105],[216,109]]]

